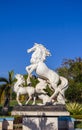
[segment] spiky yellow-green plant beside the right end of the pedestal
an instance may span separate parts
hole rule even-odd
[[[68,103],[66,104],[67,110],[70,112],[71,115],[80,115],[82,114],[82,104],[79,103]]]

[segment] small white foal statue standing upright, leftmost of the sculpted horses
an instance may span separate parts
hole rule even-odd
[[[23,84],[25,83],[23,75],[17,74],[15,78],[17,79],[17,82],[14,84],[13,90],[17,94],[16,100],[18,104],[22,106],[22,103],[19,100],[19,96],[22,94],[28,94],[29,96],[25,104],[28,104],[28,102],[32,99],[32,97],[33,97],[33,104],[35,104],[35,97],[34,97],[35,89],[31,86],[23,87]]]

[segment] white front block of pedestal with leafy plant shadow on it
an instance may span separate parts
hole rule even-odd
[[[24,117],[23,130],[58,130],[55,117]]]

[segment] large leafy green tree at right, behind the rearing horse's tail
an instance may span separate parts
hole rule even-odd
[[[82,59],[65,59],[57,72],[69,81],[69,87],[65,93],[67,100],[82,103]]]

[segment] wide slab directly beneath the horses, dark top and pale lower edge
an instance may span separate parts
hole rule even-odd
[[[66,110],[65,105],[15,106],[11,114],[23,116],[69,116],[69,112]]]

